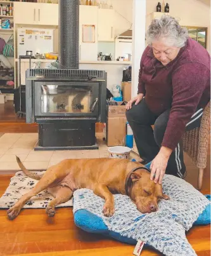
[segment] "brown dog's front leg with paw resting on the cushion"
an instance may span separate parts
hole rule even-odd
[[[105,205],[103,206],[103,214],[106,217],[111,217],[115,212],[113,194],[108,190],[106,185],[96,185],[94,194],[105,199]]]

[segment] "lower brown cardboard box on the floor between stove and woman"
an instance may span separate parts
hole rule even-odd
[[[106,144],[108,146],[124,145],[126,122],[126,118],[106,119]]]

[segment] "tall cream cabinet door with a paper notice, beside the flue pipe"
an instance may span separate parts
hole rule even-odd
[[[83,42],[83,25],[94,25],[94,43]],[[98,60],[98,6],[80,5],[79,60]]]

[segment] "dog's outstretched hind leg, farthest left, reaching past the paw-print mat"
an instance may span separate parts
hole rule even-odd
[[[56,175],[56,173],[58,172],[60,172],[60,170],[57,168],[57,166],[49,168],[42,177],[42,179],[37,182],[34,188],[27,194],[23,194],[23,196],[17,201],[17,203],[8,210],[8,218],[10,220],[15,219],[20,213],[23,205],[25,205],[25,203],[29,201],[32,196],[35,196],[39,192],[43,191],[44,189],[49,187],[49,185],[53,184],[56,179],[58,179],[58,176]]]

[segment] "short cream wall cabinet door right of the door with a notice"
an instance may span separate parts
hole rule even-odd
[[[98,10],[98,41],[115,41],[114,10]]]

